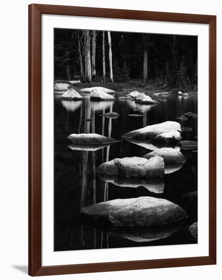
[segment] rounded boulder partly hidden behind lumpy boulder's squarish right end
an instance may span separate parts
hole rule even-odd
[[[150,159],[153,156],[161,156],[164,159],[164,163],[184,163],[186,161],[184,155],[172,148],[162,148],[157,151],[150,152],[143,157]]]

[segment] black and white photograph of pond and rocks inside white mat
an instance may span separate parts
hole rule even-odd
[[[54,29],[54,251],[198,243],[198,37]]]

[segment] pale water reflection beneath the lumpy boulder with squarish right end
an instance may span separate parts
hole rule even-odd
[[[98,174],[98,177],[105,181],[112,183],[118,187],[129,187],[138,188],[143,186],[148,191],[153,193],[163,193],[164,192],[164,180],[163,179],[141,179],[141,178],[125,178],[118,175],[102,175]]]

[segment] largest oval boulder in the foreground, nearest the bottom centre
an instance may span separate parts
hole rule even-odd
[[[187,217],[178,205],[164,199],[116,199],[82,208],[80,217],[118,227],[144,227],[172,223]]]

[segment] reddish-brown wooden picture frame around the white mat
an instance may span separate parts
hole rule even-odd
[[[31,4],[29,30],[29,238],[31,276],[216,264],[216,16]],[[41,264],[41,14],[205,23],[209,25],[209,256],[97,264]]]

